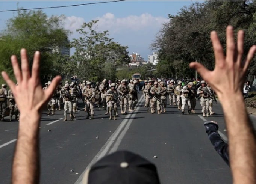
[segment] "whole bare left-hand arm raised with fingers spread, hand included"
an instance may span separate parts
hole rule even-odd
[[[40,53],[38,51],[34,55],[32,75],[30,75],[25,49],[21,49],[21,70],[16,56],[12,56],[11,61],[18,86],[6,72],[2,72],[2,76],[12,90],[20,110],[18,138],[12,164],[12,183],[35,184],[39,183],[38,127],[41,112],[52,97],[61,77],[55,77],[51,85],[43,90],[39,78]]]

